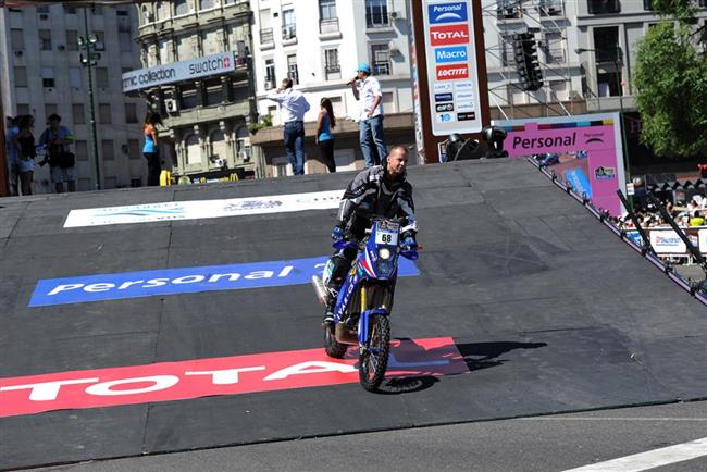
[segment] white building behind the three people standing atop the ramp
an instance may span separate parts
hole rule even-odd
[[[408,36],[409,0],[252,0],[253,70],[258,114],[273,127],[251,137],[263,174],[292,174],[277,104],[266,95],[290,77],[310,103],[305,116],[307,173],[323,173],[314,144],[320,100],[330,98],[337,119],[337,170],[363,166],[359,146],[359,104],[346,85],[361,62],[369,62],[383,89],[384,125],[389,146],[413,146],[412,85]]]

